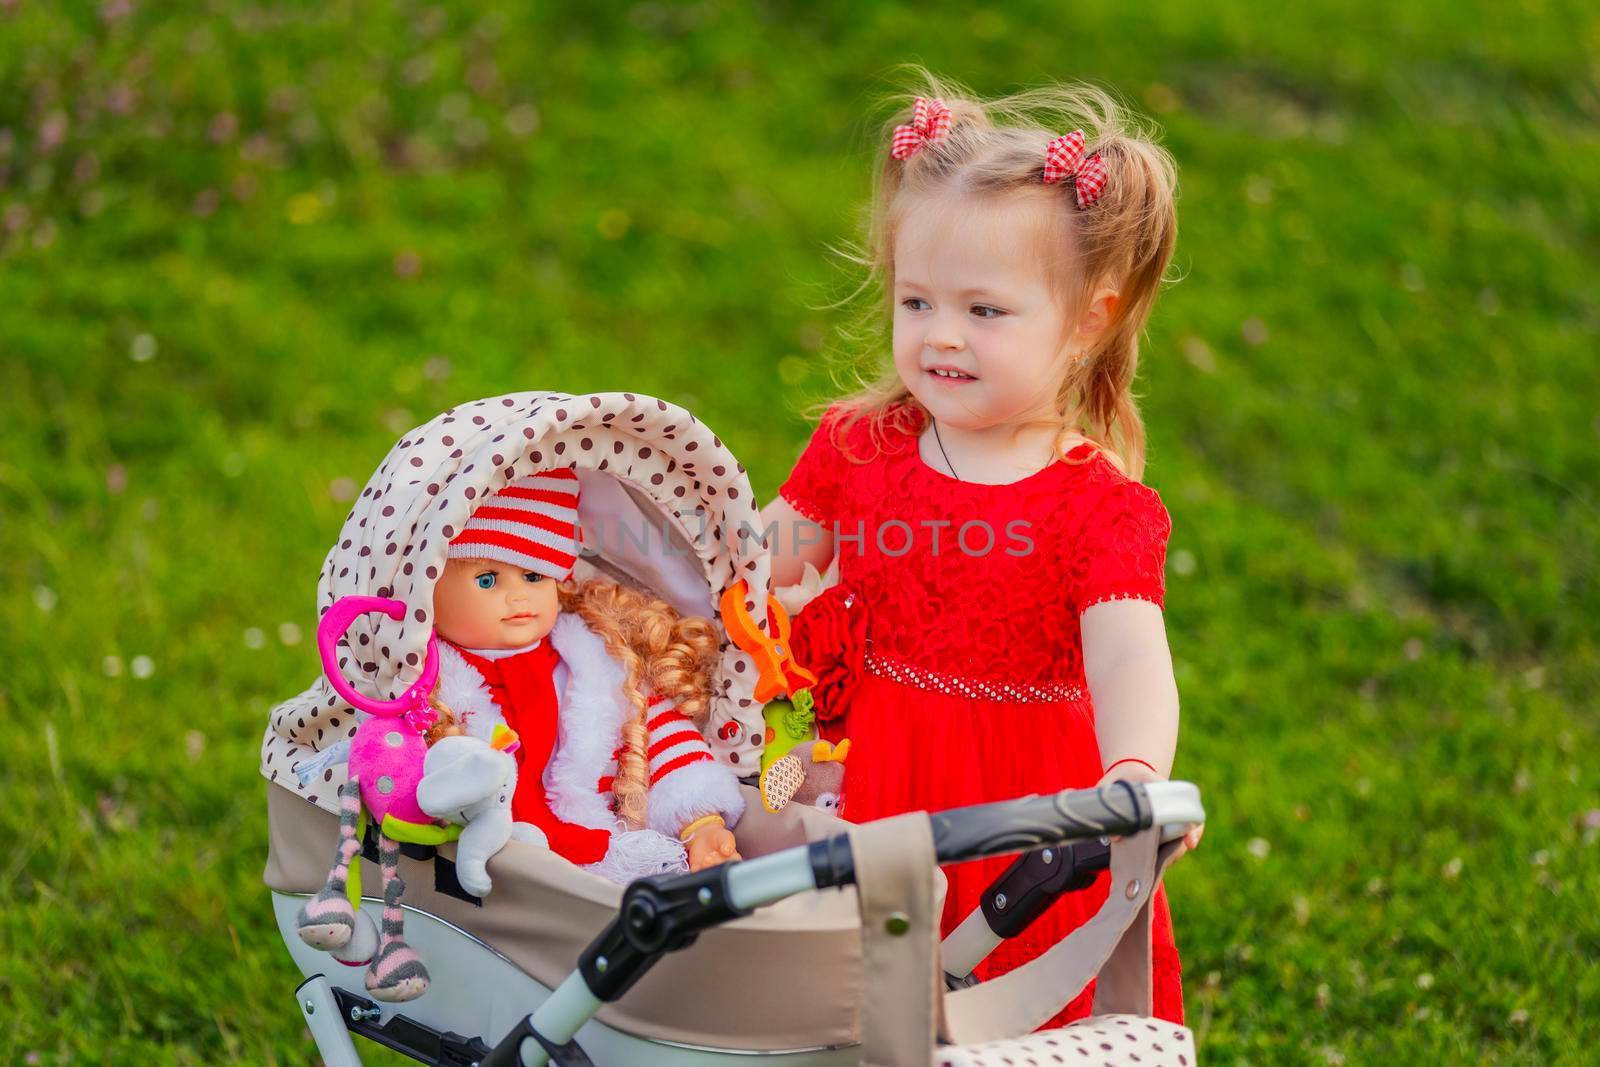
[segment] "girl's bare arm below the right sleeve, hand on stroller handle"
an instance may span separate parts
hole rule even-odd
[[[1083,675],[1094,701],[1101,784],[1160,781],[1171,776],[1178,750],[1178,680],[1166,646],[1162,609],[1147,600],[1107,600],[1080,617]],[[1149,763],[1122,763],[1131,758]],[[1200,843],[1205,827],[1184,835],[1182,849]]]

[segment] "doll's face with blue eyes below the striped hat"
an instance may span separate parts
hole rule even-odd
[[[499,560],[446,560],[434,585],[434,627],[461,648],[522,648],[560,614],[558,585]]]

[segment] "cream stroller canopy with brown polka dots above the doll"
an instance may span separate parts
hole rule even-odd
[[[589,493],[589,480],[610,475],[635,504],[656,510],[651,518],[690,549],[683,555],[690,569],[698,563],[707,614],[723,589],[746,579],[747,608],[765,629],[765,613],[754,606],[766,600],[766,552],[757,537],[739,536],[762,530],[760,509],[744,467],[704,422],[643,394],[507,394],[443,411],[402,437],[344,520],[317,584],[317,616],[349,595],[406,605],[398,622],[374,613],[350,627],[339,661],[352,685],[392,699],[416,680],[450,539],[483,498],[515,478],[557,469],[579,472],[586,501],[600,496]],[[584,539],[586,545],[595,541],[587,530]],[[598,550],[598,558],[579,561],[579,577],[614,576],[605,537],[598,542],[586,549]],[[754,686],[750,657],[725,635],[706,739],[736,774],[755,771],[765,731]],[[354,734],[357,721],[357,712],[318,675],[272,709],[261,745],[262,776],[336,811],[344,766],[304,784],[294,768]]]

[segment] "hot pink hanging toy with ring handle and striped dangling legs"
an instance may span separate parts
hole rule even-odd
[[[350,707],[368,717],[350,739],[349,777],[339,790],[339,851],[328,881],[301,909],[299,936],[344,963],[368,963],[366,990],[378,1000],[403,1001],[427,992],[429,977],[422,960],[405,942],[398,841],[440,845],[459,837],[461,827],[437,822],[416,801],[427,757],[422,734],[438,718],[427,699],[438,678],[438,641],[429,635],[422,675],[400,697],[365,697],[339,670],[339,641],[350,622],[368,611],[382,611],[398,621],[405,617],[405,603],[384,597],[344,597],[317,625],[317,651],[322,653],[328,683]],[[382,934],[376,944],[371,944],[371,923],[358,912],[362,867],[357,857],[366,813],[378,822],[384,875]]]

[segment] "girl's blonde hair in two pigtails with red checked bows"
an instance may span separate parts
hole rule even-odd
[[[917,69],[915,75],[920,86],[904,98],[878,139],[883,166],[874,187],[866,243],[850,256],[866,269],[853,294],[867,298],[864,333],[878,342],[877,350],[885,347],[894,301],[894,238],[914,198],[947,194],[1042,197],[1048,221],[1037,248],[1067,322],[1082,317],[1098,288],[1118,294],[1106,328],[1067,365],[1056,386],[1058,451],[1086,438],[1128,477],[1142,477],[1144,424],[1133,379],[1139,365],[1139,333],[1150,317],[1178,237],[1178,168],[1171,155],[1155,144],[1154,130],[1141,125],[1110,93],[1091,85],[1053,85],[981,101],[926,70]],[[950,130],[896,160],[888,150],[893,128],[912,122],[917,96],[941,99],[950,109]],[[1077,206],[1074,182],[1043,184],[1045,146],[1072,130],[1083,130],[1085,158],[1099,154],[1106,162],[1106,186],[1085,210]],[[856,392],[842,402],[845,414],[835,427],[840,443],[843,432],[859,419],[867,419],[874,440],[882,442],[891,411],[904,413],[906,405],[920,411],[893,363],[875,378],[858,378]]]

